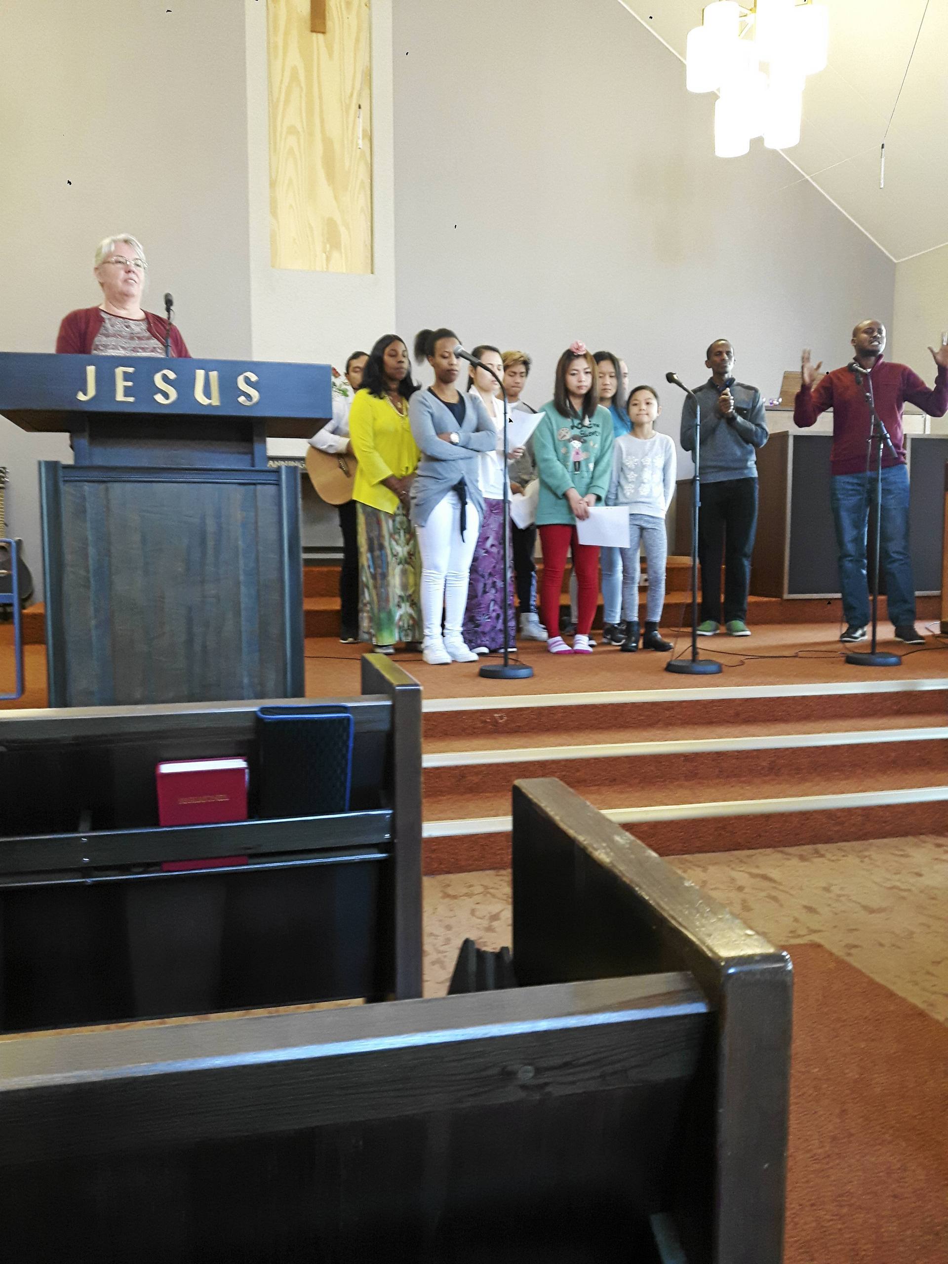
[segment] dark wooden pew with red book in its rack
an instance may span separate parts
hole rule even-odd
[[[253,769],[259,703],[0,713],[0,1031],[420,996],[421,688],[362,672],[337,817],[157,827],[155,765]]]

